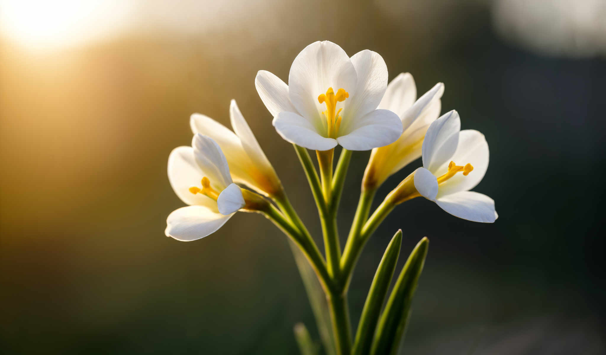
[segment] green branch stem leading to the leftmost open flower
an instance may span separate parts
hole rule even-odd
[[[292,239],[292,241],[295,242],[299,248],[301,248],[303,254],[305,254],[305,257],[307,257],[307,260],[310,262],[311,267],[313,267],[316,274],[318,274],[318,279],[322,284],[322,288],[324,288],[324,290],[327,292],[334,291],[333,281],[328,274],[322,254],[320,254],[320,251],[318,250],[318,247],[316,247],[313,240],[305,237],[305,235],[299,231],[299,228],[291,224],[291,222],[284,217],[284,215],[280,213],[278,209],[273,207],[273,205],[269,205],[267,210],[262,211],[262,213],[265,215],[265,217],[270,219],[273,224],[280,228],[282,232],[290,237],[290,239]]]

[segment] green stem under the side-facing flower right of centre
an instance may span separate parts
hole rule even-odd
[[[368,218],[368,213],[373,203],[375,193],[376,189],[364,189],[360,193],[358,208],[356,208],[356,215],[353,218],[353,223],[351,224],[351,229],[349,231],[349,235],[347,236],[347,243],[345,244],[343,256],[341,257],[341,275],[343,276],[342,280],[344,281],[343,287],[345,290],[347,290],[349,286],[353,268],[358,261],[360,253],[362,252],[362,247],[364,247],[365,241],[362,241],[360,234],[362,232],[364,222],[366,222]]]

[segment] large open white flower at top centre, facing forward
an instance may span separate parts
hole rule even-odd
[[[376,109],[387,88],[387,65],[370,50],[349,58],[332,42],[314,42],[296,56],[288,85],[261,70],[255,86],[278,133],[301,147],[369,150],[402,133],[395,113]]]

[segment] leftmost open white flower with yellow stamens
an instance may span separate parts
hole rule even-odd
[[[195,134],[191,147],[178,147],[170,153],[168,180],[181,201],[189,205],[173,211],[166,220],[166,236],[178,241],[195,241],[215,232],[245,206],[221,148],[202,134]]]

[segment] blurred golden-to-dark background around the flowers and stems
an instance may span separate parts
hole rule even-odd
[[[400,267],[431,241],[402,353],[606,353],[604,2],[72,2],[0,2],[3,353],[293,354],[296,322],[317,338],[287,241],[264,218],[238,213],[189,243],[164,228],[182,206],[168,153],[190,144],[191,113],[228,125],[234,98],[319,236],[254,79],[287,80],[324,39],[377,51],[419,95],[444,82],[442,113],[490,145],[475,190],[499,212],[475,224],[424,199],[397,208],[355,270],[354,327],[402,228]],[[350,165],[342,237],[368,155]]]

